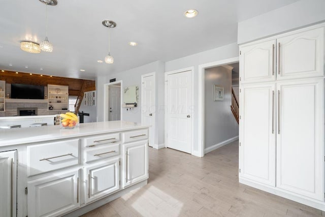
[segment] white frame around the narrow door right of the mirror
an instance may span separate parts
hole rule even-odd
[[[154,147],[154,148],[156,148],[156,149],[158,149],[158,138],[157,138],[157,132],[156,132],[156,105],[157,105],[157,96],[156,96],[156,72],[151,72],[151,73],[147,73],[147,74],[143,74],[143,75],[141,75],[141,122],[142,123],[144,123],[144,114],[143,114],[143,108],[144,108],[144,100],[143,100],[143,96],[144,96],[144,88],[143,88],[143,84],[144,84],[144,82],[143,82],[143,79],[145,78],[145,77],[149,77],[149,76],[153,76],[153,96],[154,96],[154,100],[153,100],[153,102],[154,102],[154,111],[153,111],[153,114],[154,114],[154,118],[153,118],[153,144],[151,144],[152,145],[152,147]],[[149,143],[149,142],[148,142]]]

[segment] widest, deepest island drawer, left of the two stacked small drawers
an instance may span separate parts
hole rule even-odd
[[[79,139],[27,146],[27,175],[71,167],[79,163]]]

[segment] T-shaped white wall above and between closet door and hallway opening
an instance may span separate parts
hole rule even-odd
[[[174,59],[171,61],[167,61],[165,65],[166,72],[179,70],[187,67],[194,67],[194,151],[199,151],[199,141],[198,141],[198,70],[199,65],[211,63],[213,61],[218,61],[222,59],[228,59],[232,57],[236,57],[239,54],[237,43],[225,45],[222,47],[218,47],[215,49],[207,50],[201,53],[196,53],[193,55],[185,56],[179,59]]]

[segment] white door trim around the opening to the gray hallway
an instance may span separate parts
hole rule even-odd
[[[204,75],[205,75],[205,69],[228,65],[228,64],[234,64],[239,63],[239,56],[228,58],[228,59],[222,59],[218,61],[213,61],[211,63],[207,64],[201,64],[199,65],[199,78],[198,78],[198,86],[199,86],[199,99],[198,99],[198,145],[199,149],[198,151],[195,151],[193,155],[198,157],[204,157],[204,103],[205,103],[205,96],[204,96]]]

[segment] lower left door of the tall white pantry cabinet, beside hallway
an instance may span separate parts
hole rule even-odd
[[[239,176],[275,186],[275,83],[240,88]]]

